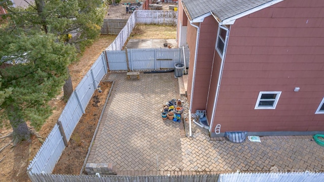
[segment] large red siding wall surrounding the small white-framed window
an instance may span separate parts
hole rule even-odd
[[[320,0],[286,0],[235,21],[213,128],[324,130],[314,114],[324,97],[323,9]],[[254,109],[260,91],[282,92],[275,110]]]

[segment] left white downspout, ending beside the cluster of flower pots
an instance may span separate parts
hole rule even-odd
[[[194,52],[194,63],[193,63],[193,74],[192,74],[192,82],[191,82],[191,95],[190,95],[190,106],[189,106],[189,136],[191,136],[191,108],[192,108],[192,99],[193,99],[193,88],[194,88],[194,79],[196,76],[196,62],[197,62],[197,53],[198,53],[198,45],[199,45],[199,26],[196,26],[190,22],[190,25],[197,28],[197,37],[196,37],[196,47]]]

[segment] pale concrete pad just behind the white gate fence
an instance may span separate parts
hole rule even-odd
[[[178,48],[176,39],[130,39],[126,44],[128,49],[139,48],[166,48],[163,44]]]

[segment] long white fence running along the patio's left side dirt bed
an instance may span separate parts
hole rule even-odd
[[[104,54],[102,53],[87,72],[87,75],[77,85],[59,117],[67,141],[70,139],[83,113],[85,113],[85,108],[95,88],[97,88],[97,85],[106,73],[107,65]],[[37,173],[52,173],[56,162],[60,159],[65,149],[65,138],[63,137],[64,134],[61,133],[59,125],[55,124],[41,149],[39,149],[27,168],[27,173],[30,178],[33,174]]]

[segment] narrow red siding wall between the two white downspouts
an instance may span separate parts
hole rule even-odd
[[[193,88],[194,94],[193,94],[192,108],[191,108],[192,112],[195,112],[196,110],[206,110],[207,96],[209,94],[209,85],[210,85],[212,65],[213,65],[213,57],[215,52],[215,43],[216,43],[215,32],[217,32],[217,28],[218,28],[217,22],[212,16],[205,18],[204,22],[200,23],[199,47],[197,53],[196,74],[195,74],[194,88]],[[190,35],[187,35],[187,37],[190,37],[190,40],[192,40],[193,38]],[[194,47],[190,46],[189,47],[190,51],[193,48]],[[193,67],[193,63],[194,63],[194,52],[193,54],[191,54],[190,52],[189,67]],[[188,83],[192,80],[192,75],[193,75],[192,71],[193,69],[189,68]],[[190,87],[188,84],[187,90],[190,89],[191,89],[191,84]]]

